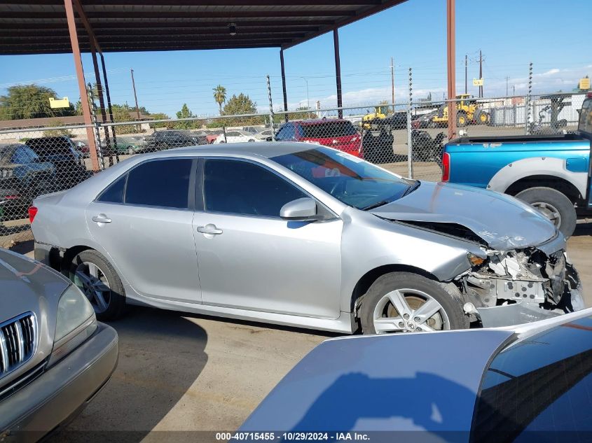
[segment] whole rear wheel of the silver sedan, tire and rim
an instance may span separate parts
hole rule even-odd
[[[99,320],[115,320],[123,314],[123,283],[111,263],[97,251],[83,251],[74,257],[70,279],[86,295]]]

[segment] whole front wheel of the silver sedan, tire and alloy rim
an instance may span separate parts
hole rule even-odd
[[[469,328],[455,288],[410,272],[380,276],[362,299],[364,334]]]

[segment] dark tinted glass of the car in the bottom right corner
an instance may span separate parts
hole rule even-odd
[[[509,346],[483,377],[471,442],[530,442],[535,433],[591,431],[591,368],[590,317]]]

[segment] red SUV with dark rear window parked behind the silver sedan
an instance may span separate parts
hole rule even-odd
[[[319,118],[287,122],[275,134],[277,141],[308,141],[329,148],[362,156],[362,137],[352,122],[341,119]]]

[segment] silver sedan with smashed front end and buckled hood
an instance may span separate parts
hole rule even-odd
[[[31,216],[36,258],[102,320],[144,304],[381,333],[584,306],[563,235],[530,206],[306,143],[138,155]]]

